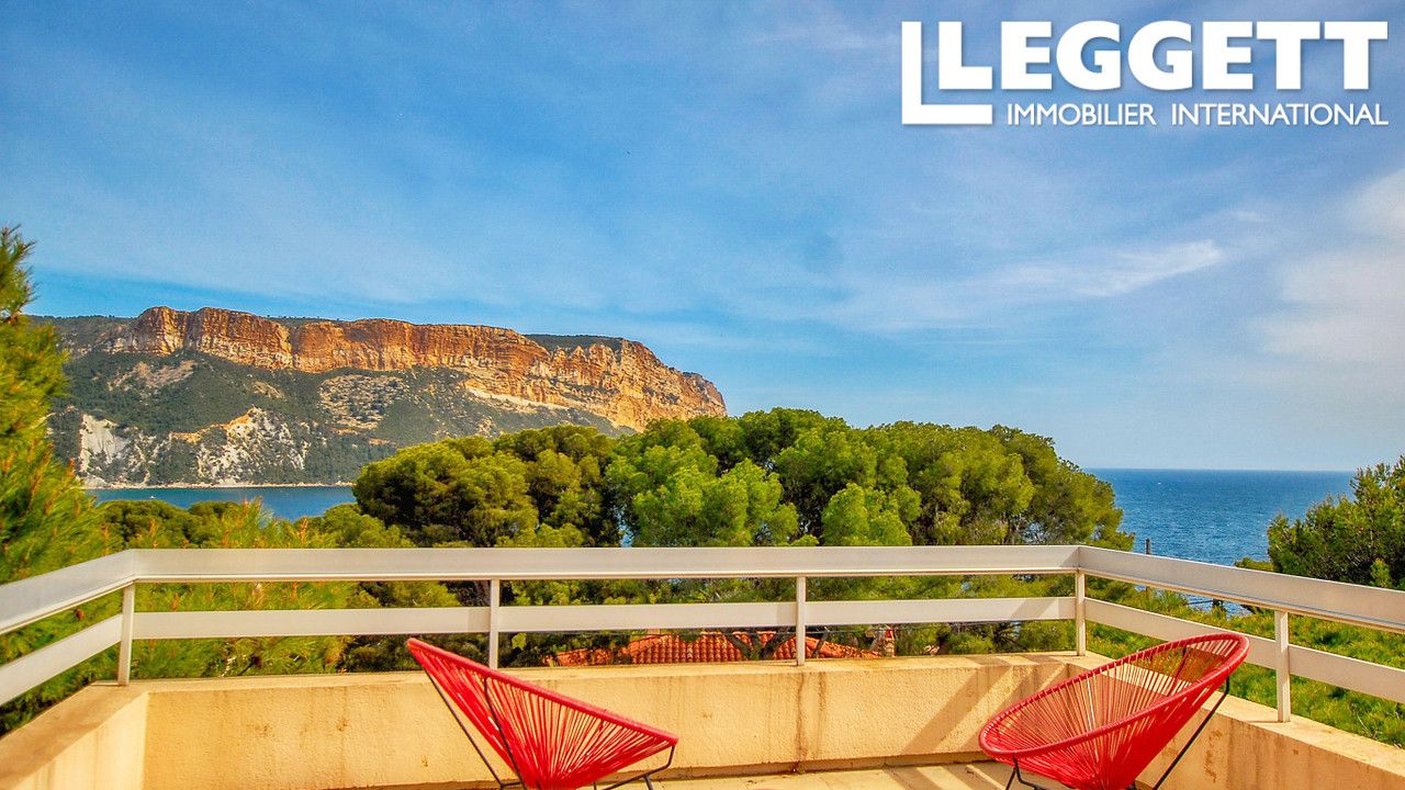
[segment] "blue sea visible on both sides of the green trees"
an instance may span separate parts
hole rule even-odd
[[[1123,509],[1123,529],[1137,534],[1137,551],[1151,538],[1154,554],[1232,564],[1269,558],[1267,527],[1283,513],[1302,516],[1328,496],[1352,491],[1352,472],[1241,472],[1204,470],[1089,470],[1106,479]],[[284,519],[316,516],[351,502],[346,486],[131,488],[96,491],[100,500],[195,502],[263,499]]]

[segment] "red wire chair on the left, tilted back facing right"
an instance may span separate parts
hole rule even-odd
[[[434,682],[440,699],[500,789],[576,790],[594,786],[606,776],[667,749],[669,759],[662,766],[608,786],[643,779],[653,790],[649,777],[673,763],[677,735],[518,680],[419,640],[409,640],[406,645]],[[503,782],[464,718],[513,769],[517,782]]]

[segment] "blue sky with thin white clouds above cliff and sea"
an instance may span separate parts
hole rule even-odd
[[[622,335],[733,413],[1014,425],[1089,467],[1405,453],[1401,42],[1375,129],[905,128],[898,80],[903,20],[991,62],[1002,18],[1402,7],[992,6],[8,0],[0,222],[38,312]],[[1338,59],[1220,100],[1366,100]]]

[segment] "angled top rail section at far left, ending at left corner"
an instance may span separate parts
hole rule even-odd
[[[0,585],[0,634],[125,588],[135,578],[135,561],[131,551],[119,551]]]

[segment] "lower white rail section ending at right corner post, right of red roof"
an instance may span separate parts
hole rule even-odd
[[[1072,619],[1072,597],[811,600],[805,603],[805,620],[812,626],[895,626],[910,623],[998,623]]]

